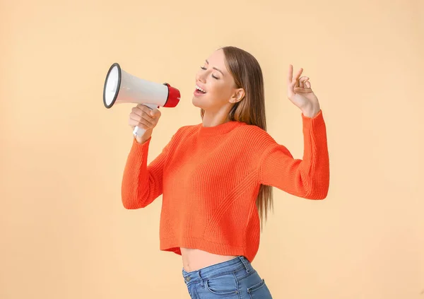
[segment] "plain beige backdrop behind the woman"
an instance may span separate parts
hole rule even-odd
[[[161,199],[122,207],[132,105],[105,109],[102,87],[117,61],[181,90],[152,160],[201,121],[194,74],[225,45],[261,63],[269,133],[296,158],[288,64],[328,127],[328,198],[274,189],[254,260],[274,298],[424,298],[422,0],[2,0],[0,14],[1,299],[189,298],[180,257],[158,250]]]

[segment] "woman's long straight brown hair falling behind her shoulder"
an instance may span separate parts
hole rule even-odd
[[[252,124],[266,131],[264,77],[259,62],[243,49],[237,47],[220,49],[223,49],[225,64],[234,78],[236,88],[245,90],[245,98],[232,106],[228,119]],[[203,109],[201,117],[204,117]],[[268,210],[273,208],[271,186],[261,185],[256,204],[262,226]]]

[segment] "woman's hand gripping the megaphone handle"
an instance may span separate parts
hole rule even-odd
[[[158,124],[161,115],[162,113],[158,109],[151,110],[142,104],[132,108],[128,124],[133,130],[135,127],[146,130],[143,135],[136,136],[137,142],[144,143],[152,136],[153,129]]]

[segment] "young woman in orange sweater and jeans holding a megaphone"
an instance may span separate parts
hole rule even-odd
[[[290,65],[288,98],[302,112],[302,160],[267,134],[261,67],[237,47],[213,52],[196,75],[192,102],[201,108],[201,124],[178,129],[149,164],[160,111],[137,105],[129,115],[129,125],[146,133],[132,143],[122,202],[140,209],[163,195],[160,250],[182,256],[192,298],[271,298],[251,264],[272,206],[271,187],[305,199],[326,197],[326,126],[309,78],[301,74],[293,77]]]

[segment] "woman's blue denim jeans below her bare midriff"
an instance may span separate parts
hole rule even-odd
[[[192,299],[272,299],[271,293],[245,257],[207,266],[182,276]]]

